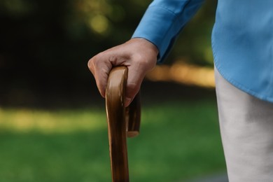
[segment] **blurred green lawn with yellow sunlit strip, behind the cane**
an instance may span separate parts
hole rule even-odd
[[[132,182],[225,170],[214,101],[144,106],[127,143]],[[0,181],[111,181],[105,111],[0,109]]]

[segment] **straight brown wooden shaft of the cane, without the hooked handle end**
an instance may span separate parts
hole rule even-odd
[[[112,181],[129,181],[124,95],[127,68],[113,68],[106,88]]]

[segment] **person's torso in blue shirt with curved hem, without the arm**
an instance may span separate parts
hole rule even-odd
[[[273,102],[272,0],[218,0],[212,47],[223,77]]]

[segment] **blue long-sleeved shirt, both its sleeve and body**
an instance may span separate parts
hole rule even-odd
[[[133,38],[146,38],[162,62],[204,0],[155,0]],[[273,0],[218,0],[212,31],[221,75],[248,94],[273,102]]]

